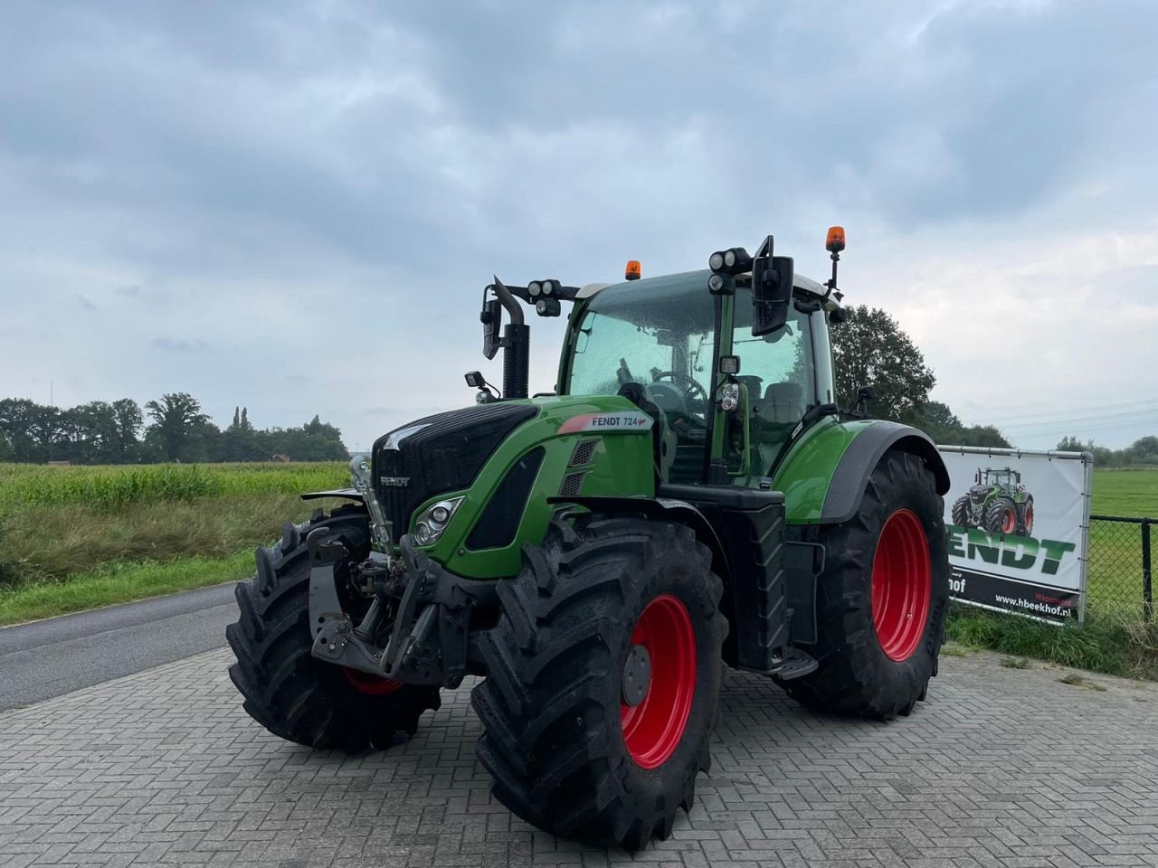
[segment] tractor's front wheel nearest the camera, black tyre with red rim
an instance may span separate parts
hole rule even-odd
[[[632,851],[667,838],[711,764],[721,590],[680,524],[555,523],[525,546],[522,572],[498,586],[488,678],[471,693],[494,796],[564,838]]]

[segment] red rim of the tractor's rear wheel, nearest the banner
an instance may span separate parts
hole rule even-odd
[[[908,660],[929,620],[932,567],[929,542],[911,509],[897,509],[885,522],[872,564],[872,623],[886,656]]]

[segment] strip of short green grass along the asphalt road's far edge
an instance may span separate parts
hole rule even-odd
[[[113,603],[192,590],[244,579],[254,568],[250,551],[226,558],[178,558],[152,564],[102,564],[67,582],[0,590],[0,625],[51,618]]]

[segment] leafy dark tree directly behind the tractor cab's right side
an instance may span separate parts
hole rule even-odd
[[[877,390],[870,410],[882,419],[899,420],[928,404],[937,377],[897,322],[886,311],[864,304],[848,308],[848,315],[831,331],[836,399],[841,406],[852,407],[857,390],[864,385]]]

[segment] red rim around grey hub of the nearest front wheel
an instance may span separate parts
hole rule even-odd
[[[651,684],[643,701],[620,700],[620,724],[636,765],[655,768],[675,752],[696,692],[696,633],[687,606],[670,595],[652,599],[631,632],[631,643],[651,655]]]

